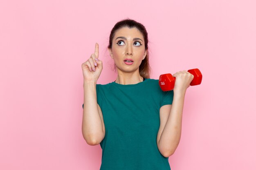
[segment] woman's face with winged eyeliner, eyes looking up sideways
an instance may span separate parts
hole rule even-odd
[[[118,29],[112,40],[112,49],[109,49],[117,69],[124,72],[133,72],[139,69],[147,54],[144,43],[143,35],[137,28]]]

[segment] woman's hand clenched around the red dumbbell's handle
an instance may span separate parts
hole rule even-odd
[[[192,82],[194,75],[189,73],[188,71],[179,71],[175,74],[173,74],[173,77],[175,77],[175,84],[173,88],[174,91],[179,92],[186,92],[186,89],[189,88],[190,83]]]

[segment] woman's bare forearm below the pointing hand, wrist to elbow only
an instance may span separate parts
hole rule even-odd
[[[105,126],[101,108],[97,103],[96,83],[84,82],[84,104],[83,104],[83,138],[89,145],[99,144],[105,136]]]

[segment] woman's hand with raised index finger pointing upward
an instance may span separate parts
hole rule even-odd
[[[99,44],[95,44],[95,51],[90,58],[82,64],[83,79],[84,81],[95,81],[97,82],[99,75],[102,71],[102,61],[99,57]]]

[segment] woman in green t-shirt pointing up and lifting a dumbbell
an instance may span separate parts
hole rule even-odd
[[[100,170],[170,170],[168,157],[180,142],[184,97],[193,75],[175,73],[174,89],[162,91],[158,80],[150,79],[147,31],[135,20],[115,24],[108,50],[118,73],[114,82],[97,84],[103,68],[97,43],[82,64],[85,141],[100,144]]]

